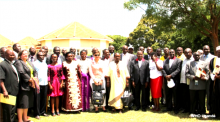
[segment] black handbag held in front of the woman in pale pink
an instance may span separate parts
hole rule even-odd
[[[104,94],[102,93],[101,86],[96,86],[94,83],[92,84],[92,104],[94,105],[103,105],[104,103]]]

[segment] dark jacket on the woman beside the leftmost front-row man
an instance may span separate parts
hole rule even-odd
[[[37,77],[37,71],[34,68],[34,65],[30,61],[27,61],[27,62],[31,65],[31,67],[34,70],[34,73],[33,73],[34,77]],[[18,71],[19,76],[20,76],[19,77],[20,78],[19,83],[20,83],[20,86],[21,86],[21,90],[30,91],[29,80],[31,78],[31,71],[30,71],[29,67],[22,60],[17,60],[14,63],[14,65],[17,68],[17,71]]]

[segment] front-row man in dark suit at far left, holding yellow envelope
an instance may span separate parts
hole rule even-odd
[[[13,65],[15,54],[12,50],[7,50],[5,60],[0,63],[0,93],[3,93],[5,98],[8,95],[17,96],[19,90],[19,76],[16,68]],[[3,121],[13,122],[15,119],[16,107],[13,105],[2,103]]]

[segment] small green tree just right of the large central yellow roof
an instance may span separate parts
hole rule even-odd
[[[115,52],[122,53],[122,46],[125,45],[127,37],[121,35],[107,35],[107,36],[114,40],[114,42],[109,43],[109,45],[113,45],[115,47]]]

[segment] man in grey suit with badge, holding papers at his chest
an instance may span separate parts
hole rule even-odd
[[[209,65],[205,61],[199,60],[198,52],[193,53],[195,61],[186,64],[186,77],[190,79],[190,117],[194,117],[196,101],[199,99],[199,114],[205,118],[205,93],[206,84],[209,79]],[[205,71],[205,74],[197,74],[198,70]],[[196,97],[198,96],[198,97]]]

